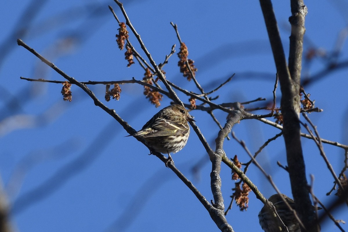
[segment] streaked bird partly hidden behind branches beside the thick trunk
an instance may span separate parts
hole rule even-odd
[[[284,199],[289,203],[292,209],[295,209],[295,202],[290,197],[282,194]],[[279,217],[282,219],[286,225],[289,232],[301,232],[301,227],[299,222],[296,220],[294,214],[290,209],[285,205],[284,201],[278,194],[272,195],[269,199],[273,203],[274,207],[277,210]],[[317,209],[321,209],[318,207]],[[315,207],[313,206],[313,210]],[[280,222],[276,218],[276,214],[273,213],[271,209],[267,206],[263,206],[259,213],[259,223],[262,227],[262,230],[265,232],[280,232],[284,231]]]

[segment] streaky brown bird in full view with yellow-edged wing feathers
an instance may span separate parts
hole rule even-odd
[[[180,151],[187,143],[190,135],[188,121],[195,120],[185,107],[169,105],[153,115],[133,136],[142,137],[153,151],[167,153],[170,161],[172,157],[169,153]]]

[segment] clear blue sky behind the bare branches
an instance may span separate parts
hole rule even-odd
[[[149,151],[144,145],[132,137],[124,137],[126,131],[110,115],[95,107],[85,92],[73,86],[73,101],[63,102],[61,84],[19,79],[22,76],[64,80],[29,51],[17,46],[17,37],[78,81],[130,80],[132,77],[140,80],[144,74],[137,63],[127,68],[124,51],[117,48],[118,24],[108,9],[111,5],[124,21],[116,3],[111,0],[37,2],[30,11],[34,13],[33,18],[25,17],[21,21],[31,1],[0,3],[0,43],[5,44],[8,51],[0,63],[0,175],[8,192],[8,202],[13,205],[13,226],[18,231],[52,232],[219,231],[195,195],[175,174],[155,156],[147,155]],[[305,3],[308,7],[305,52],[314,46],[329,56],[339,33],[347,26],[348,3],[343,0]],[[173,22],[188,47],[189,58],[195,61],[197,80],[205,90],[216,88],[236,73],[232,81],[216,93],[220,95],[216,103],[243,102],[258,97],[272,99],[276,70],[259,2],[132,0],[124,1],[124,6],[157,64],[164,61],[173,44],[176,44],[176,53],[179,51],[179,42],[170,25]],[[288,54],[290,3],[274,1],[274,10]],[[11,37],[21,27],[27,30]],[[130,40],[141,51],[133,34]],[[343,42],[341,51],[338,62],[348,58],[347,43]],[[167,79],[198,92],[194,83],[179,73],[177,61],[175,54],[165,65]],[[303,76],[313,75],[327,67],[327,59],[318,58],[303,66]],[[324,110],[309,115],[321,137],[344,144],[348,144],[347,86],[347,69],[340,69],[305,87],[316,106]],[[104,86],[90,88],[136,130],[170,104],[170,100],[164,98],[156,109],[143,96],[143,87],[136,84],[121,85],[120,100],[110,102],[103,100]],[[179,93],[179,97],[188,102],[187,96]],[[279,101],[280,89],[277,90]],[[250,107],[261,104],[254,103]],[[215,149],[214,139],[219,128],[206,113],[190,113]],[[216,111],[215,114],[223,125],[226,113]],[[280,132],[256,120],[243,120],[233,130],[252,152]],[[333,178],[314,142],[308,139],[302,142],[307,176],[314,175],[314,192],[322,202],[328,203],[335,198],[326,196],[333,186]],[[234,140],[226,141],[224,149],[231,158],[237,154],[240,161],[249,160]],[[327,144],[324,149],[339,174],[343,150]],[[209,162],[198,174],[192,172],[199,160],[207,158],[193,131],[185,148],[172,157],[207,200],[212,199]],[[278,188],[291,196],[288,175],[276,165],[277,160],[286,165],[283,138],[271,142],[258,156],[258,161]],[[230,172],[222,165],[226,207],[235,186]],[[250,166],[247,176],[266,197],[275,193],[255,166]],[[251,193],[247,211],[240,212],[234,204],[226,217],[235,231],[261,232],[257,217],[261,208],[262,203]],[[337,219],[346,222],[347,215],[347,208],[334,212]],[[348,230],[347,225],[342,227]],[[328,221],[322,224],[322,230],[339,231]]]

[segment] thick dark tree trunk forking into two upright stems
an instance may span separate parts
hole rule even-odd
[[[302,40],[304,33],[304,16],[306,15],[306,7],[303,1],[291,1],[292,33],[294,33],[290,45],[291,67],[287,67],[282,40],[277,26],[276,17],[270,0],[260,0],[263,17],[266,23],[269,41],[271,43],[274,61],[280,82],[280,90],[282,91],[282,99],[280,102],[283,114],[284,128],[283,137],[286,147],[286,157],[288,162],[288,171],[292,194],[295,201],[296,211],[300,219],[304,222],[306,229],[310,231],[319,231],[319,228],[312,226],[311,218],[315,218],[311,209],[311,201],[309,191],[307,189],[306,169],[301,146],[301,129],[299,123],[300,113],[300,72],[301,59],[295,58],[296,54],[302,53]],[[296,25],[294,22],[298,22]],[[293,25],[294,24],[294,25]],[[302,35],[301,35],[302,33]],[[300,58],[302,55],[300,55]],[[290,71],[291,72],[290,72]],[[294,76],[291,76],[293,74]],[[305,231],[303,228],[301,231]]]

